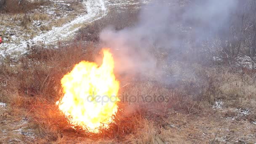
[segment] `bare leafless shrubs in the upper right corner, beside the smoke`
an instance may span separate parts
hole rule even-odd
[[[234,66],[239,56],[248,56],[251,59],[251,68],[255,68],[256,57],[256,11],[255,0],[240,2],[240,7],[233,12],[230,18],[229,29],[219,32],[214,40],[204,43],[209,57],[218,57],[224,64]]]

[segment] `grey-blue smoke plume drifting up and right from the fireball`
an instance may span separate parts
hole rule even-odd
[[[100,40],[112,48],[118,72],[154,73],[155,51],[168,50],[168,58],[176,59],[203,40],[225,32],[238,2],[153,0],[142,6],[135,26],[119,31],[109,27],[101,32]]]

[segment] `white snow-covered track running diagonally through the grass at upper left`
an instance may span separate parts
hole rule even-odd
[[[30,41],[21,40],[19,44],[14,43],[4,43],[0,45],[4,47],[4,51],[0,51],[0,56],[5,56],[6,54],[11,54],[19,52],[21,54],[26,53],[27,45],[32,43],[45,43],[54,44],[58,40],[63,40],[75,35],[78,29],[81,26],[79,24],[88,23],[100,19],[101,17],[107,14],[107,8],[105,7],[105,0],[87,0],[83,2],[83,5],[87,9],[87,13],[83,13],[80,16],[77,16],[76,19],[70,21],[67,24],[64,24],[61,27],[53,27],[52,30],[37,35]]]

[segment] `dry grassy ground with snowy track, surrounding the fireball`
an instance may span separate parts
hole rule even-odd
[[[94,56],[99,55],[98,32],[108,24],[116,29],[131,25],[136,16],[117,24],[121,19],[118,13],[125,9],[136,13],[141,5],[135,0],[73,2],[49,1],[28,14],[5,14],[2,18],[5,45],[0,53],[0,144],[256,143],[253,70],[178,60],[167,63],[160,56],[156,59],[163,73],[158,78],[150,74],[117,75],[119,93],[160,93],[168,96],[168,101],[120,102],[116,123],[100,134],[72,129],[55,104],[61,96],[61,77],[82,59],[94,61]],[[31,20],[22,25],[24,18]],[[64,36],[54,45],[59,32],[65,29],[71,29],[72,37]],[[27,45],[31,39],[46,42]],[[16,49],[21,55],[13,53],[15,48],[21,48]],[[159,77],[174,82],[164,83]]]

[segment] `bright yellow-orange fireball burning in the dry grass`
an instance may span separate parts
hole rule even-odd
[[[114,59],[108,49],[102,50],[101,66],[81,61],[61,79],[64,96],[56,102],[74,126],[99,133],[109,128],[117,112],[119,82],[113,73]]]

